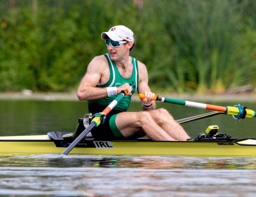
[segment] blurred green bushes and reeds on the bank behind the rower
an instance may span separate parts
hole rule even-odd
[[[76,90],[107,52],[101,32],[121,24],[153,89],[256,85],[255,0],[0,0],[0,91]]]

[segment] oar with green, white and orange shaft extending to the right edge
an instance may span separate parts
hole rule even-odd
[[[139,94],[139,98],[145,98],[145,94]],[[155,95],[152,100],[155,101],[161,101],[165,103],[173,103],[178,105],[184,105],[189,107],[196,107],[196,108],[202,108],[202,109],[208,109],[208,110],[215,110],[215,111],[222,111],[225,114],[233,115],[236,119],[244,119],[256,117],[256,112],[253,110],[247,109],[247,107],[242,107],[241,105],[236,105],[234,107],[221,107],[217,105],[209,105],[204,103],[196,103],[191,101],[184,101],[174,98],[165,98],[165,97],[159,97],[158,95]]]

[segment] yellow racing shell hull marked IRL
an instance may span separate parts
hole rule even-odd
[[[256,140],[244,141],[151,141],[93,139],[82,140],[73,155],[134,155],[134,156],[190,156],[190,157],[256,157]],[[246,143],[245,143],[246,142]],[[53,140],[47,135],[26,139],[0,139],[0,155],[60,154],[71,143]]]

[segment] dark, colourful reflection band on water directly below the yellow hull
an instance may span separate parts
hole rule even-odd
[[[35,162],[36,161],[36,162]],[[2,156],[0,167],[105,167],[144,169],[256,170],[256,158],[176,156],[29,155]]]

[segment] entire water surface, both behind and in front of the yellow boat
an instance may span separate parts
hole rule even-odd
[[[238,103],[210,103],[233,106]],[[256,110],[255,103],[246,103]],[[134,102],[129,111],[139,111]],[[209,111],[158,103],[175,119]],[[74,131],[86,102],[0,101],[0,135]],[[255,119],[219,115],[183,124],[190,136],[218,125],[234,138],[256,137]],[[255,196],[256,158],[94,155],[0,156],[0,195],[23,196]]]

